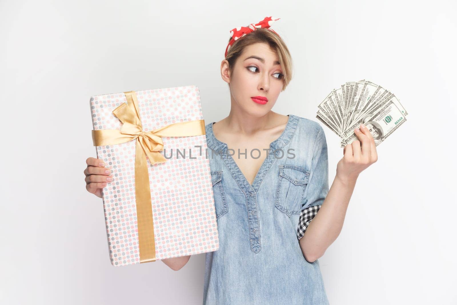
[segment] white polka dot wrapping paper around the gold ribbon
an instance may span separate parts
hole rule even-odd
[[[197,86],[135,91],[143,131],[203,119]],[[94,130],[121,129],[112,111],[127,103],[123,92],[92,96]],[[163,137],[168,160],[151,165],[149,184],[156,260],[216,251],[219,247],[206,136]],[[102,189],[106,234],[113,266],[140,263],[135,204],[136,140],[96,146],[113,181]]]

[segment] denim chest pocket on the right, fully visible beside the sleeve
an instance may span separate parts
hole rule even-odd
[[[292,164],[279,166],[279,177],[276,185],[275,206],[287,216],[300,214],[303,194],[308,184],[309,171]]]

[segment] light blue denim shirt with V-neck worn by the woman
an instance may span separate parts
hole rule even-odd
[[[203,304],[329,304],[319,262],[303,257],[297,238],[301,211],[329,191],[323,128],[289,115],[251,185],[213,123],[205,128],[219,249],[206,253]]]

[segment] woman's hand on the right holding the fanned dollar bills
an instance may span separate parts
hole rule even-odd
[[[336,177],[344,182],[356,182],[361,171],[377,161],[376,145],[372,134],[365,125],[361,124],[360,128],[355,130],[359,140],[344,147],[344,157],[336,166]]]

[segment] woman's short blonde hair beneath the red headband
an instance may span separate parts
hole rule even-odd
[[[231,39],[232,37],[230,37],[228,42],[230,42]],[[292,57],[282,38],[267,28],[257,28],[254,32],[250,32],[249,34],[237,39],[232,46],[228,48],[225,59],[228,61],[228,70],[230,71],[230,75],[232,75],[235,62],[243,53],[244,48],[254,43],[267,43],[270,48],[276,51],[279,64],[281,64],[284,80],[281,91],[284,91],[289,82],[292,80]]]

